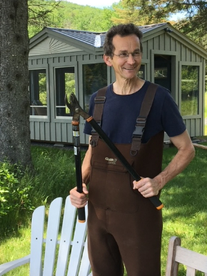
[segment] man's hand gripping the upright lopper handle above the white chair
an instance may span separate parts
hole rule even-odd
[[[86,185],[83,184],[83,193],[78,193],[77,188],[73,188],[70,190],[70,201],[71,204],[77,208],[81,208],[86,206],[88,201],[88,189],[86,188]]]

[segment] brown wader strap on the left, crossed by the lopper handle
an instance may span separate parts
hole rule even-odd
[[[95,121],[97,122],[97,124],[99,124],[99,126],[101,126],[103,105],[106,101],[106,90],[107,90],[107,86],[104,88],[101,88],[97,92],[97,97],[95,97],[95,108],[94,108],[94,112],[93,112],[93,119],[95,119]],[[97,143],[99,140],[98,133],[94,129],[92,129],[91,135],[92,135],[91,140],[90,140],[91,146],[97,146]]]

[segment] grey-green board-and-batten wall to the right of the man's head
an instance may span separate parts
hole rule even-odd
[[[145,41],[146,39],[146,41]],[[143,61],[148,61],[146,65],[146,79],[154,81],[154,55],[170,55],[172,57],[172,97],[175,99],[179,110],[181,110],[181,66],[192,65],[199,66],[199,91],[205,91],[205,64],[204,57],[199,55],[191,45],[179,41],[167,33],[160,33],[156,37],[146,37],[143,41],[144,55]],[[190,134],[190,137],[204,135],[204,93],[199,92],[199,114],[184,116],[184,123]],[[167,135],[166,135],[166,138]]]

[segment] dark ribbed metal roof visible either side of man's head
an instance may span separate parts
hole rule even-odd
[[[157,24],[151,24],[146,26],[139,26],[139,28],[141,32],[146,33],[150,30],[154,30],[164,25],[166,25],[166,23],[157,23]],[[94,46],[95,48],[103,47],[103,43],[106,36],[106,32],[88,32],[84,30],[70,30],[70,29],[52,28],[52,27],[47,27],[47,28],[59,34],[63,34],[66,37],[70,37],[72,39],[76,39],[83,43],[87,43],[90,46]]]

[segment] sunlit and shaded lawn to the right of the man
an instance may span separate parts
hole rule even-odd
[[[179,236],[182,246],[207,255],[207,150],[196,148],[195,159],[162,190],[164,230],[161,251],[161,275],[165,275],[170,237]],[[164,166],[176,153],[164,150]],[[185,268],[179,271],[184,276]],[[200,274],[198,274],[200,275]]]

